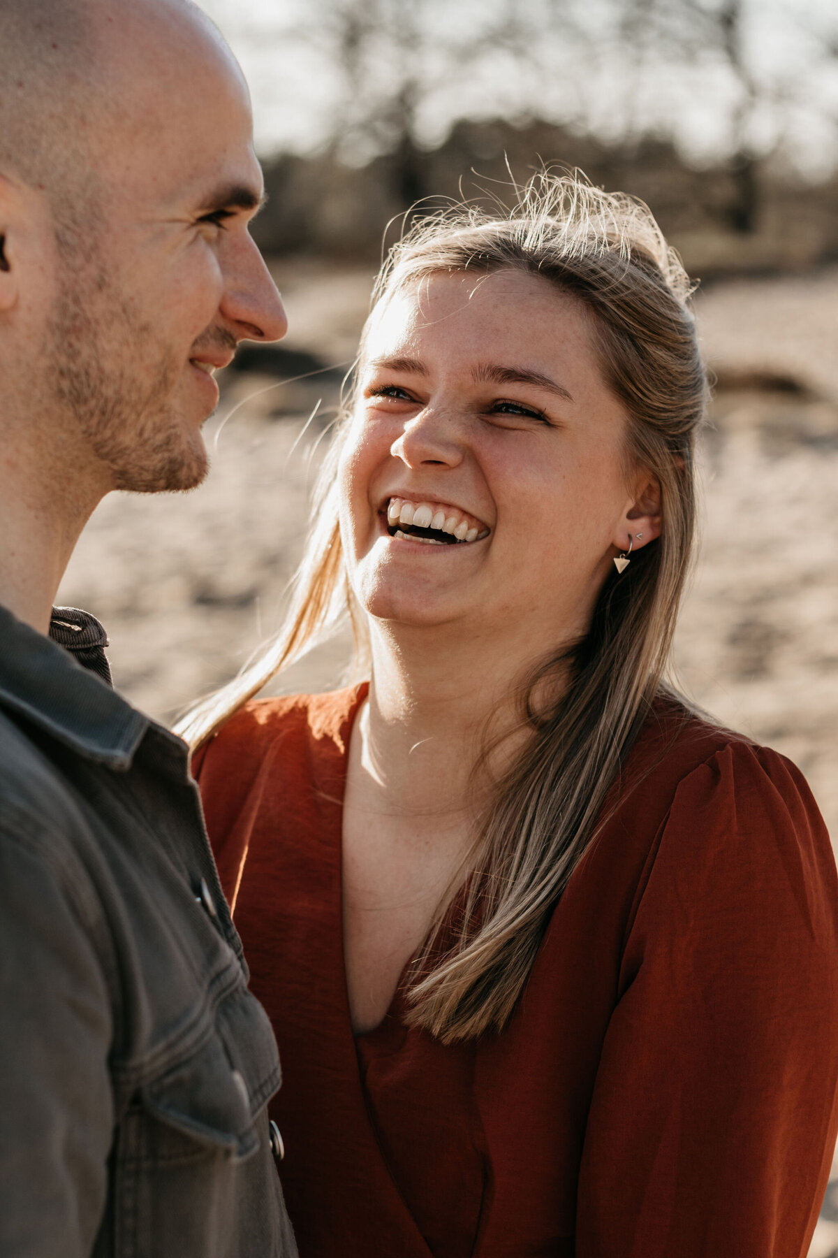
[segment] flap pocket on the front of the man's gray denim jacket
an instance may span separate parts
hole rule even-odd
[[[274,1254],[281,1196],[265,1101],[279,1086],[268,1019],[244,986],[197,1047],[144,1082],[114,1162],[118,1258]]]

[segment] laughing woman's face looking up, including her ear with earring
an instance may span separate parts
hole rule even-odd
[[[435,274],[378,306],[359,371],[339,483],[361,605],[523,652],[583,632],[614,547],[657,532],[585,307],[520,272]]]

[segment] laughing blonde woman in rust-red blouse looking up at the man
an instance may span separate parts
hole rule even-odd
[[[648,211],[392,253],[289,623],[186,727],[303,1258],[805,1253],[837,907],[793,765],[662,678],[705,375]],[[256,689],[348,611],[369,681]]]

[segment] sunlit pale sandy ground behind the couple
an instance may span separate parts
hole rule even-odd
[[[276,273],[289,347],[348,364],[369,272],[298,262]],[[697,307],[724,387],[702,443],[702,547],[678,674],[704,707],[800,765],[838,839],[838,268],[716,284]],[[765,376],[795,387],[766,387]],[[206,483],[114,494],[97,511],[60,598],[106,621],[116,682],[139,707],[168,720],[278,625],[334,403],[318,377],[227,374]],[[328,689],[347,662],[339,639],[281,688]],[[838,1165],[833,1174],[810,1258],[838,1254]]]

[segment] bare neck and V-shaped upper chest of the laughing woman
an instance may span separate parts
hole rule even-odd
[[[474,765],[504,693],[479,653],[480,667],[456,643],[449,652],[437,640],[431,654],[410,638],[373,626],[369,702],[349,741],[342,881],[356,1032],[379,1024],[469,869],[480,805]]]

